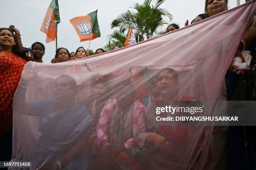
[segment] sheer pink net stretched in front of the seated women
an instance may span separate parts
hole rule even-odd
[[[153,148],[139,141],[152,130],[145,115],[151,112],[153,99],[161,100],[161,90],[171,88],[175,93],[170,100],[182,100],[182,96],[203,101],[221,99],[225,73],[255,13],[253,0],[184,29],[115,51],[57,64],[28,62],[23,72],[33,70],[34,75],[27,88],[18,87],[13,102],[12,160],[32,161],[36,169],[60,161],[84,138],[90,138],[89,144],[84,143],[79,155],[65,168],[92,166],[90,157],[101,154],[97,147],[102,137],[124,143],[126,149]],[[161,87],[156,81],[164,68],[174,70],[177,79],[169,78],[173,83]],[[120,84],[125,80],[132,85]],[[213,107],[207,109],[210,113]],[[102,127],[110,131],[103,128],[102,132]],[[173,143],[173,152],[163,158],[157,151],[152,168],[214,167],[210,158],[213,127],[173,128],[170,134],[166,133],[168,127],[155,129]],[[122,162],[111,161],[122,167]]]

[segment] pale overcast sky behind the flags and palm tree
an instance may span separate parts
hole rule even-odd
[[[142,3],[143,0],[59,0],[61,23],[58,25],[58,47],[65,47],[69,52],[75,51],[79,46],[88,48],[89,41],[79,41],[69,20],[98,10],[101,37],[91,42],[90,49],[95,51],[103,48],[107,43],[107,36],[113,32],[110,28],[111,21],[136,2]],[[55,41],[45,43],[46,35],[40,28],[50,3],[51,0],[1,0],[0,10],[0,27],[15,25],[20,30],[24,47],[31,47],[36,41],[43,43],[46,46],[43,60],[47,63],[54,58]],[[161,8],[172,14],[172,23],[183,27],[186,20],[190,23],[198,14],[204,13],[204,3],[205,0],[166,0]],[[240,0],[240,3],[245,3],[245,0]],[[228,7],[236,7],[236,0],[229,0]]]

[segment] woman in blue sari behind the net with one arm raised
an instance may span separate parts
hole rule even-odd
[[[22,73],[17,97],[25,97],[31,71]],[[53,82],[54,99],[26,102],[15,101],[16,113],[39,118],[38,145],[25,154],[26,161],[39,170],[86,169],[87,142],[91,133],[92,117],[86,106],[78,104],[76,81],[68,75],[61,75]],[[28,143],[27,143],[28,144]]]

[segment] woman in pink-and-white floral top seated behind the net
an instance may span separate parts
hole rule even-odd
[[[108,159],[134,147],[134,138],[141,129],[145,112],[143,104],[135,100],[131,80],[125,80],[116,87],[119,94],[105,104],[96,128],[95,145],[100,146],[101,151],[109,156]]]

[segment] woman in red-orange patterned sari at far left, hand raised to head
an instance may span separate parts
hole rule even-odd
[[[19,30],[0,28],[0,161],[11,158],[13,96],[27,61],[33,59],[23,51]]]

